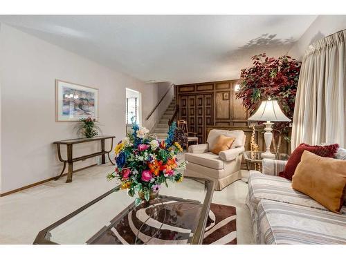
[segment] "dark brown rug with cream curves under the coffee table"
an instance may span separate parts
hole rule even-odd
[[[159,198],[117,215],[87,244],[190,244],[203,205]],[[235,207],[211,204],[203,244],[237,244]]]

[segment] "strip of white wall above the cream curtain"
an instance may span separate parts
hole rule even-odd
[[[302,37],[293,44],[288,55],[301,60],[310,44],[345,29],[346,15],[319,15]]]

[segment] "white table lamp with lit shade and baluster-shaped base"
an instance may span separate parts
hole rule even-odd
[[[291,119],[286,117],[284,113],[282,113],[281,108],[279,104],[277,103],[277,100],[271,100],[268,99],[266,101],[262,101],[260,107],[257,109],[257,111],[248,118],[249,121],[257,121],[257,122],[264,122],[264,125],[266,125],[266,128],[264,128],[264,142],[266,142],[266,152],[262,153],[262,158],[275,158],[275,154],[271,153],[271,141],[273,140],[273,128],[271,126],[273,125],[272,122],[290,122]]]

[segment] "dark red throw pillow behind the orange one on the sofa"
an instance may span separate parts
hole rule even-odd
[[[338,144],[331,144],[329,146],[310,146],[309,144],[302,143],[292,152],[289,161],[287,161],[287,164],[284,167],[284,171],[280,172],[279,175],[288,180],[292,180],[295,168],[298,166],[302,153],[305,150],[319,155],[320,157],[334,157],[338,148]]]

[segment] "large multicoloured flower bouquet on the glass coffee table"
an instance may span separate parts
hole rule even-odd
[[[166,140],[159,141],[155,135],[149,135],[147,128],[134,124],[133,133],[118,143],[116,151],[116,170],[109,173],[109,180],[120,180],[119,189],[127,189],[133,197],[138,192],[136,205],[142,200],[149,202],[157,197],[162,184],[167,181],[181,182],[185,162],[177,164],[176,154],[182,152],[180,144],[174,140],[176,124],[168,131]]]

